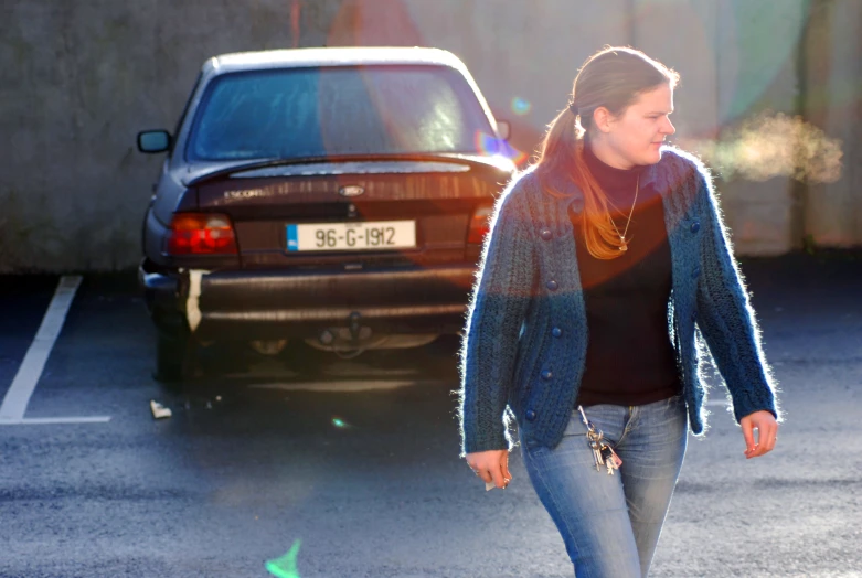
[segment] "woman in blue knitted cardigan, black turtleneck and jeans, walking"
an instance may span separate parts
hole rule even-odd
[[[662,147],[678,81],[631,49],[587,60],[497,203],[470,302],[461,457],[506,488],[517,421],[576,576],[647,576],[688,428],[705,427],[704,341],[746,458],[775,447],[775,382],[710,173]]]

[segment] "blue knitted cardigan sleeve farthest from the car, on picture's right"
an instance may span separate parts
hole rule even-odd
[[[716,195],[710,178],[702,171],[696,174],[703,226],[698,325],[731,393],[736,421],[764,409],[780,421],[777,387],[763,352],[760,328]]]

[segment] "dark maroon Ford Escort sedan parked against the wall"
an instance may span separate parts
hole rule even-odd
[[[488,217],[514,171],[465,65],[435,49],[209,60],[143,222],[157,376],[192,345],[408,347],[462,329]]]

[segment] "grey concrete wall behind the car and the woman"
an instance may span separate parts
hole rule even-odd
[[[0,18],[0,271],[135,266],[161,162],[136,151],[137,131],[173,129],[211,55],[318,45],[453,51],[525,153],[592,52],[635,45],[682,74],[678,141],[721,161],[737,253],[784,253],[806,234],[862,245],[858,0],[6,0]],[[800,90],[821,85],[800,110]],[[841,178],[755,180],[716,156],[715,139],[760,111],[805,113],[840,139]]]

